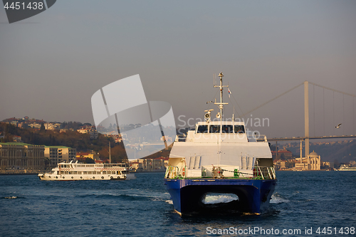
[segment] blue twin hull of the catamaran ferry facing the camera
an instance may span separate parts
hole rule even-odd
[[[175,211],[181,216],[197,214],[261,214],[268,208],[276,179],[164,179]],[[204,204],[206,194],[236,194],[239,200]]]

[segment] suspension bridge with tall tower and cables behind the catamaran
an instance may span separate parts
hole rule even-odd
[[[255,107],[253,110],[250,110],[248,112],[245,112],[241,117],[244,117],[246,115],[251,114],[251,112],[258,110],[259,108],[267,105],[268,103],[272,102],[273,100],[276,100],[278,98],[281,98],[281,96],[286,95],[287,93],[290,93],[292,90],[295,90],[296,88],[299,88],[300,86],[304,85],[304,136],[303,137],[274,137],[274,138],[268,138],[268,141],[286,141],[286,140],[303,140],[305,142],[305,157],[310,154],[309,152],[309,140],[310,139],[330,139],[330,138],[350,138],[350,137],[356,137],[356,135],[330,135],[330,136],[314,136],[310,137],[310,129],[309,129],[309,85],[313,85],[313,103],[315,102],[315,93],[314,93],[314,88],[323,88],[323,117],[324,117],[324,124],[325,124],[325,100],[324,100],[324,90],[330,90],[333,92],[333,117],[334,117],[334,123],[335,123],[335,93],[339,93],[342,95],[342,121],[345,121],[345,96],[351,97],[352,98],[352,125],[355,125],[355,98],[356,95],[352,95],[350,93],[344,93],[340,90],[335,90],[333,88],[328,88],[323,85],[318,85],[315,83],[310,83],[308,81],[305,81],[304,83],[300,83],[299,85],[296,85],[295,87],[291,88],[290,90],[287,90],[284,93],[281,93],[281,95],[277,95],[275,98],[268,100],[264,102],[262,105],[259,105],[258,107]],[[236,102],[237,103],[237,102]],[[238,104],[239,105],[239,104]],[[241,108],[240,108],[241,110]],[[313,106],[313,117],[315,118],[315,105]],[[315,122],[315,119],[314,119]],[[325,126],[324,126],[325,127]],[[315,126],[314,126],[315,130]],[[325,129],[324,129],[325,130]],[[345,131],[345,130],[344,130]],[[315,134],[315,132],[314,132]]]

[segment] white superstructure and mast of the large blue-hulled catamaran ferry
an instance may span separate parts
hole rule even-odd
[[[265,135],[256,135],[246,129],[244,122],[223,120],[222,90],[229,85],[214,85],[220,89],[219,121],[211,121],[211,111],[205,110],[204,122],[197,122],[195,130],[177,135],[169,154],[166,178],[173,177],[241,177],[259,176],[276,179],[271,149]],[[239,175],[241,174],[241,175]]]

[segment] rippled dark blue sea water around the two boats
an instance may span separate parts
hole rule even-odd
[[[199,218],[174,213],[163,173],[136,176],[127,181],[0,176],[0,236],[346,236],[347,228],[347,236],[356,236],[356,172],[277,172],[266,214]]]

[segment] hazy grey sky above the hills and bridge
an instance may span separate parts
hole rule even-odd
[[[355,95],[355,12],[356,1],[58,0],[9,24],[0,9],[0,120],[93,123],[93,93],[135,74],[147,100],[172,105],[177,126],[181,115],[215,115],[206,101],[221,71],[242,112],[304,80]],[[310,135],[356,133],[356,99],[312,85],[309,97]],[[251,117],[268,118],[251,128],[268,137],[303,136],[303,87]]]

